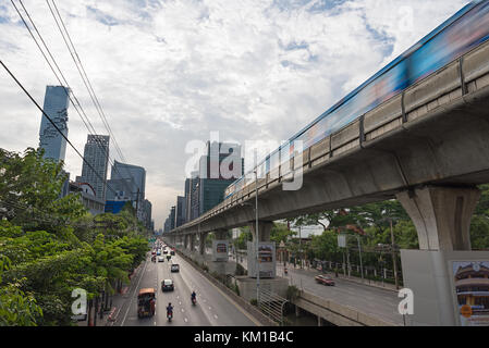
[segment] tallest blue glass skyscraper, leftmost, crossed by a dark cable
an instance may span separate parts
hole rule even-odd
[[[46,86],[44,111],[57,127],[68,137],[68,108],[70,89],[63,86]],[[42,114],[39,129],[39,147],[45,158],[64,161],[66,140]]]

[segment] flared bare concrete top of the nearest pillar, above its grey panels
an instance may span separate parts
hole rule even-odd
[[[479,189],[433,186],[396,197],[416,226],[420,250],[470,250],[470,219]]]

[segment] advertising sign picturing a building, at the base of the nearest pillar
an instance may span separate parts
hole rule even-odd
[[[462,326],[489,326],[489,261],[452,261]]]

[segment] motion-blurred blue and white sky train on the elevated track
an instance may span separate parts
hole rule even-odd
[[[257,165],[258,177],[293,158],[294,140],[302,140],[303,150],[308,149],[488,38],[489,0],[473,1],[267,156]],[[289,156],[281,159],[280,153]],[[254,181],[247,174],[228,186],[224,199]]]

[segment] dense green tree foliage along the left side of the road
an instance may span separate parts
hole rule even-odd
[[[60,197],[62,163],[0,149],[0,325],[71,325],[71,297],[88,299],[129,282],[148,250],[131,207],[90,215],[77,195]]]

